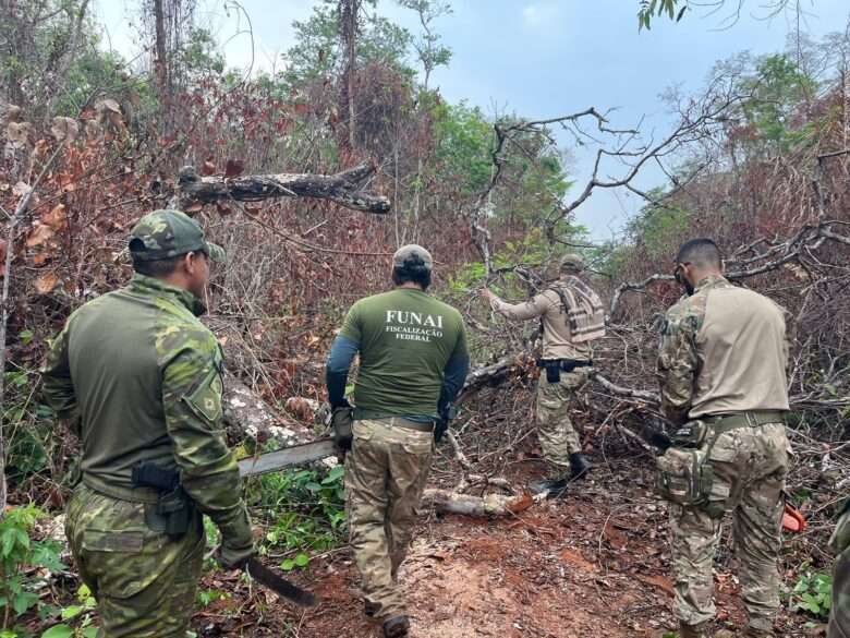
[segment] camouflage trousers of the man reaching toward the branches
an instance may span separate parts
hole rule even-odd
[[[543,458],[558,474],[569,471],[570,455],[582,450],[570,410],[575,393],[587,383],[590,371],[590,368],[576,368],[572,372],[561,372],[558,383],[549,383],[544,370],[537,382],[537,436]]]

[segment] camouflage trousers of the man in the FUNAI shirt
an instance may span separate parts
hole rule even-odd
[[[345,455],[345,509],[351,547],[375,618],[405,614],[399,566],[410,545],[434,450],[434,434],[384,420],[354,421]]]

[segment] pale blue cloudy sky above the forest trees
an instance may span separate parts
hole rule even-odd
[[[96,0],[97,14],[112,47],[130,58],[137,51],[129,23],[138,20],[134,0]],[[254,67],[280,67],[279,53],[293,44],[293,20],[309,16],[317,0],[242,0],[254,34]],[[731,2],[737,4],[737,2]],[[673,85],[697,91],[718,60],[749,50],[754,55],[782,51],[796,28],[793,16],[765,20],[764,2],[749,0],[737,24],[719,28],[725,14],[690,13],[678,23],[658,19],[651,32],[638,32],[636,0],[452,0],[454,12],[441,17],[437,32],[451,47],[450,65],[432,75],[452,103],[466,100],[485,112],[515,112],[545,119],[595,106],[617,109],[611,124],[643,127],[656,136],[672,122],[659,94]],[[848,0],[804,0],[804,29],[818,38],[843,32],[850,17]],[[251,37],[244,13],[224,0],[198,0],[198,19],[209,23],[230,67],[247,68]],[[415,15],[392,0],[378,11],[418,33]],[[571,178],[590,177],[591,154],[573,153]],[[647,173],[642,188],[658,185]],[[624,192],[600,192],[575,215],[596,240],[622,228],[640,202]]]

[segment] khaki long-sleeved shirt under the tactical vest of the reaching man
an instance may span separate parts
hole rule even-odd
[[[525,303],[511,304],[501,299],[493,300],[493,310],[514,321],[541,317],[543,323],[543,358],[588,361],[588,344],[573,344],[570,322],[561,298],[554,290],[544,290]]]

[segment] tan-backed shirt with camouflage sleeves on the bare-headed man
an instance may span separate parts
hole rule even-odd
[[[785,311],[720,276],[668,312],[658,377],[673,423],[751,410],[788,410]]]

